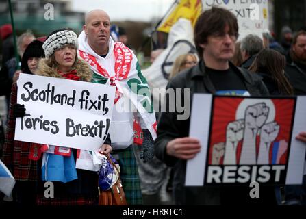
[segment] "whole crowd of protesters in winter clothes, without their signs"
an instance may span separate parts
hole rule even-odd
[[[280,204],[283,200],[279,200],[279,187],[275,186],[264,187],[262,196],[253,199],[248,195],[249,188],[244,186],[184,185],[186,162],[196,157],[202,147],[198,139],[189,136],[190,118],[178,120],[180,112],[177,110],[155,116],[141,108],[140,100],[151,96],[136,94],[135,97],[127,88],[132,80],[138,81],[139,88],[149,90],[149,85],[136,55],[125,44],[126,37],[120,38],[125,31],[118,29],[116,39],[111,31],[110,16],[103,10],[86,14],[84,29],[79,36],[68,28],[57,29],[44,38],[35,38],[27,31],[18,38],[21,70],[18,70],[14,53],[3,47],[1,74],[8,75],[3,94],[8,100],[9,113],[2,159],[16,179],[14,202],[17,205],[97,205],[99,199],[97,170],[81,165],[75,167],[77,156],[88,151],[69,149],[69,155],[56,155],[50,152],[50,148],[58,146],[44,148],[34,142],[14,140],[16,118],[25,116],[27,112],[24,105],[17,103],[18,75],[25,73],[116,86],[114,105],[120,106],[125,101],[138,103],[136,114],[114,107],[110,132],[99,150],[117,160],[128,205],[145,204],[143,193],[160,190],[161,182],[168,179],[166,175],[169,172],[168,187],[175,205]],[[306,31],[298,31],[292,36],[291,29],[285,27],[281,44],[271,35],[264,36],[269,42],[265,44],[264,38],[253,34],[238,42],[238,33],[237,18],[229,10],[212,8],[203,12],[194,27],[197,55],[187,53],[177,57],[166,89],[190,88],[189,96],[180,96],[190,103],[195,93],[225,94],[231,91],[238,96],[241,91],[244,96],[306,94]],[[1,27],[1,37],[11,40],[10,26]],[[5,45],[9,44],[12,42]],[[169,98],[166,96],[166,100]],[[143,135],[140,149],[134,142],[136,121]],[[306,127],[296,139],[306,143],[305,131]],[[33,150],[40,153],[35,157],[30,153]],[[42,162],[46,160],[48,171],[63,171],[56,176],[44,175]],[[57,165],[59,167],[54,168]],[[151,172],[151,176],[147,172]],[[45,181],[55,183],[54,198],[44,196]],[[302,185],[286,185],[283,195],[285,204],[306,205],[306,175]]]

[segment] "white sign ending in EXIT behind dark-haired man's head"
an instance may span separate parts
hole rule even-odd
[[[212,6],[226,8],[238,19],[240,39],[248,34],[268,33],[268,0],[202,0],[203,10]]]

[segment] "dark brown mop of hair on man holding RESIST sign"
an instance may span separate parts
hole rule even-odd
[[[237,18],[224,8],[212,7],[199,16],[194,27],[194,42],[199,57],[203,55],[203,48],[200,47],[200,44],[206,43],[208,36],[212,34],[223,33],[227,26],[229,26],[229,34],[238,37]]]

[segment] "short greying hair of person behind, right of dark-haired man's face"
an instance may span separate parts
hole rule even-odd
[[[257,35],[248,34],[241,40],[240,49],[246,51],[246,53],[251,57],[264,49],[264,42]]]

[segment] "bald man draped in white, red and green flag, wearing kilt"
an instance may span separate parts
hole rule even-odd
[[[144,135],[156,138],[156,119],[151,93],[133,51],[110,38],[110,17],[103,10],[86,14],[84,31],[79,35],[79,56],[93,71],[93,82],[116,86],[110,137],[113,155],[120,164],[120,178],[129,205],[142,204],[140,179],[133,155],[133,107]],[[144,136],[144,138],[146,138]],[[150,137],[151,138],[151,137]],[[153,145],[151,146],[153,149]],[[153,157],[153,152],[149,157]]]

